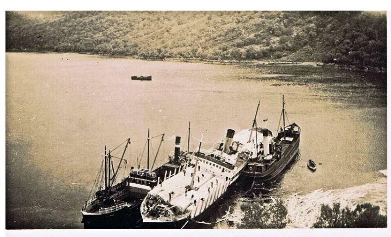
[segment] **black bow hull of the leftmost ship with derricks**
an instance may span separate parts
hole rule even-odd
[[[101,215],[83,214],[84,229],[133,229],[142,223],[141,200],[116,212]]]

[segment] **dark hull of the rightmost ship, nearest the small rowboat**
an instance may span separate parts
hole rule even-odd
[[[285,152],[282,153],[281,159],[275,164],[273,164],[267,171],[256,172],[255,169],[254,171],[250,171],[245,168],[243,169],[241,174],[243,176],[256,178],[257,180],[262,180],[262,181],[271,180],[277,177],[279,174],[282,173],[282,171],[288,166],[289,163],[292,162],[293,158],[298,154],[299,143],[300,143],[300,137],[297,138],[297,140],[295,140],[291,148],[286,149]]]

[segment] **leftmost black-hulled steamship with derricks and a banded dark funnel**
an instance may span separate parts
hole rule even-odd
[[[150,169],[150,132],[148,130],[148,155],[147,155],[147,168],[133,168],[131,167],[129,176],[122,179],[121,182],[114,185],[118,176],[118,172],[121,169],[121,164],[124,160],[124,154],[127,150],[130,139],[127,140],[125,149],[116,170],[114,170],[113,158],[119,158],[111,155],[112,151],[107,154],[105,147],[104,155],[104,172],[98,174],[95,181],[95,188],[98,189],[95,194],[90,198],[81,212],[83,215],[82,222],[84,228],[133,228],[138,223],[142,223],[140,215],[140,204],[143,198],[147,195],[153,187],[157,186],[163,180],[170,178],[177,172],[181,166],[185,165],[186,154],[184,152],[179,154],[179,159],[182,163],[174,161],[170,158],[170,161],[162,166],[153,169],[156,157],[164,139],[164,134],[161,136],[159,148],[156,152],[155,159]],[[155,136],[157,137],[157,136]],[[179,139],[180,140],[180,139]],[[118,148],[118,147],[117,147]],[[103,163],[103,162],[102,162]],[[103,164],[102,164],[103,166]],[[100,189],[99,182],[104,176],[104,189]],[[121,223],[124,223],[122,226]]]

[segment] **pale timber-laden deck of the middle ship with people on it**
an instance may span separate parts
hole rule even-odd
[[[164,205],[163,203],[165,202],[170,203],[170,205],[177,207],[182,212],[190,211],[192,217],[203,212],[217,198],[224,194],[228,186],[239,177],[240,171],[246,166],[247,160],[238,158],[238,154],[241,151],[251,151],[253,149],[253,143],[247,142],[250,133],[250,130],[243,130],[234,136],[234,141],[239,141],[238,144],[241,144],[240,146],[238,145],[238,153],[223,154],[222,151],[213,149],[203,151],[203,153],[212,153],[213,156],[211,157],[223,156],[225,162],[230,164],[229,167],[222,165],[220,162],[216,162],[213,158],[208,159],[200,155],[192,159],[193,165],[198,159],[198,163],[195,165],[197,169],[194,166],[187,167],[185,168],[185,172],[182,170],[180,173],[154,187],[149,194],[160,196],[164,200],[161,204],[156,205]],[[252,137],[255,137],[255,135],[255,133],[252,134]],[[231,162],[234,163],[233,166]],[[191,185],[193,172],[195,172],[194,189],[186,192],[186,188]]]

